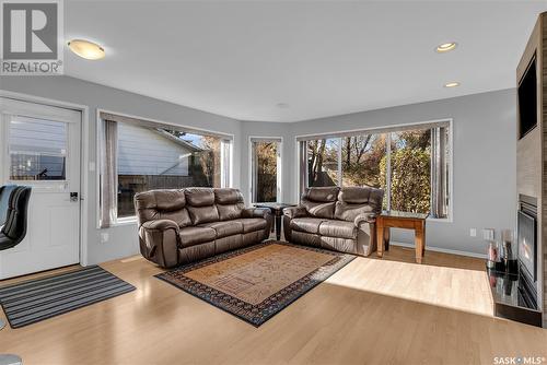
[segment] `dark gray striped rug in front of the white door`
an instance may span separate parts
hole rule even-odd
[[[12,328],[62,315],[135,291],[135,286],[92,266],[0,287],[0,304]]]

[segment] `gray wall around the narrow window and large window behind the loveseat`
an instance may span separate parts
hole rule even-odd
[[[469,228],[514,228],[516,204],[516,94],[503,90],[293,123],[244,122],[244,136],[282,136],[283,199],[298,200],[295,136],[453,118],[453,222],[428,222],[427,245],[485,254]],[[264,134],[260,134],[260,133]],[[242,187],[248,188],[248,157],[242,152]],[[245,190],[247,191],[247,190]],[[477,233],[480,236],[480,231]],[[411,243],[410,232],[394,240]]]

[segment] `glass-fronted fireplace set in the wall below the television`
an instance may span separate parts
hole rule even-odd
[[[517,212],[519,302],[537,308],[537,199],[521,195]]]

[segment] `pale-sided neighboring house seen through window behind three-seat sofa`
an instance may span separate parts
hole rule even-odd
[[[118,175],[189,176],[197,145],[166,131],[118,123]]]

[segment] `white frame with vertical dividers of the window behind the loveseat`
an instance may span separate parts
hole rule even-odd
[[[449,207],[447,207],[447,214],[446,217],[431,217],[428,216],[428,221],[430,222],[442,222],[442,223],[453,223],[454,222],[454,119],[453,118],[442,118],[442,119],[433,119],[433,120],[423,120],[423,121],[417,121],[417,122],[407,122],[407,123],[398,123],[398,125],[391,125],[391,126],[379,126],[379,127],[371,127],[371,128],[365,128],[365,129],[351,129],[351,130],[338,130],[338,131],[330,131],[330,132],[325,132],[325,133],[313,133],[313,134],[299,134],[294,137],[294,154],[298,157],[296,161],[301,161],[302,156],[300,153],[299,149],[299,143],[302,140],[305,140],[306,138],[310,138],[311,140],[315,140],[317,137],[325,138],[325,139],[342,139],[342,137],[338,137],[336,134],[377,134],[382,133],[389,133],[387,138],[387,143],[391,141],[391,133],[396,132],[397,128],[401,129],[408,129],[411,127],[417,127],[417,129],[420,128],[420,126],[423,125],[435,125],[435,123],[449,123],[449,145],[447,145],[447,152],[449,156],[446,158],[446,163],[449,164],[447,166],[447,172],[449,172],[449,179],[447,179],[447,186],[449,186]],[[386,132],[386,129],[393,129],[389,132]],[[391,149],[386,150],[386,156],[389,157],[389,151]],[[307,153],[307,149],[305,149],[305,153]],[[341,149],[338,149],[339,154],[341,153]],[[339,160],[339,163],[341,161]],[[391,169],[391,158],[387,158],[387,168]],[[300,186],[301,186],[301,179],[300,179],[300,163],[295,164],[294,167],[294,174],[296,176],[296,189],[294,192],[294,198],[295,201],[300,201]],[[391,177],[388,175],[388,182],[389,184]],[[340,186],[341,180],[338,186]],[[389,202],[389,193],[388,193],[388,204]],[[389,205],[388,205],[389,207]]]

